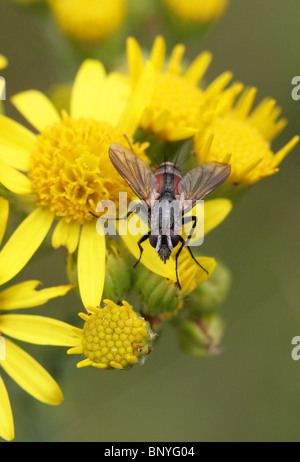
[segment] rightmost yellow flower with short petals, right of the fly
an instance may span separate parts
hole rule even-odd
[[[236,101],[237,87],[233,85],[219,96],[210,117],[199,126],[194,147],[200,164],[226,159],[231,165],[228,181],[250,185],[278,172],[278,165],[298,143],[299,136],[274,154],[271,142],[287,123],[278,119],[281,109],[275,100],[265,98],[251,112],[256,88],[246,89]]]

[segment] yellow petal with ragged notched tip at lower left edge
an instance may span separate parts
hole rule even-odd
[[[40,284],[39,281],[25,281],[0,292],[0,311],[44,305],[52,298],[66,295],[74,287],[69,284],[36,290]]]

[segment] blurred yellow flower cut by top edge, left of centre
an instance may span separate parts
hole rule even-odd
[[[48,0],[62,31],[77,41],[98,42],[122,25],[126,0]]]

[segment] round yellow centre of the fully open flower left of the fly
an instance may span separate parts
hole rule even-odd
[[[118,206],[119,192],[133,193],[112,166],[111,143],[127,145],[124,134],[106,122],[92,119],[63,119],[37,136],[29,177],[40,205],[49,207],[67,222],[83,224],[92,219],[101,200]],[[142,148],[133,146],[137,155]]]

